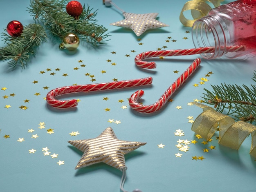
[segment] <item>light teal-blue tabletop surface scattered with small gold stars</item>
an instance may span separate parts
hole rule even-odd
[[[0,191],[119,192],[121,171],[103,163],[74,170],[83,153],[67,143],[69,140],[97,137],[107,127],[112,127],[121,140],[147,142],[125,156],[128,170],[124,188],[128,191],[255,191],[256,161],[249,155],[250,137],[238,151],[221,147],[215,138],[208,145],[203,145],[201,142],[204,140],[195,138],[191,131],[192,124],[188,122],[189,116],[195,119],[202,112],[188,103],[194,99],[200,100],[204,88],[211,89],[211,85],[220,83],[253,83],[251,77],[255,60],[202,60],[199,69],[171,97],[173,102],[168,102],[164,109],[155,114],[138,114],[128,105],[127,98],[132,93],[143,89],[143,103],[154,103],[197,57],[156,58],[153,60],[157,68],[149,70],[139,69],[134,63],[134,57],[144,51],[194,47],[191,33],[185,32],[191,28],[183,27],[179,21],[186,1],[115,0],[115,4],[126,12],[156,12],[159,13],[159,21],[170,25],[146,31],[139,37],[140,41],[131,30],[109,25],[123,19],[115,7],[106,7],[101,0],[80,2],[98,9],[98,23],[107,27],[111,35],[106,45],[94,48],[84,42],[71,54],[59,50],[57,40],[49,38],[40,46],[26,69],[17,67],[10,70],[7,62],[0,63],[0,88],[7,88],[0,90]],[[26,11],[28,6],[29,0],[2,0],[0,29],[6,28],[11,20],[19,20],[23,25],[33,23]],[[170,42],[166,42],[168,37],[171,37]],[[0,46],[3,47],[4,42],[0,42]],[[112,51],[116,51],[116,54],[112,54]],[[126,54],[130,56],[126,57]],[[83,60],[83,63],[79,63],[79,60]],[[86,66],[81,67],[82,64]],[[79,69],[75,70],[76,67]],[[56,71],[57,68],[60,71]],[[101,73],[102,70],[106,73]],[[179,72],[174,73],[176,70]],[[40,74],[40,71],[45,73]],[[206,77],[209,71],[213,74]],[[51,75],[53,72],[55,74]],[[71,110],[57,110],[46,104],[44,97],[51,89],[75,83],[92,83],[91,78],[85,76],[86,73],[94,75],[96,81],[93,83],[110,82],[114,78],[130,80],[152,76],[153,85],[63,97],[81,100]],[[200,85],[200,78],[205,77],[209,81]],[[194,84],[199,85],[195,87]],[[10,96],[13,93],[15,96]],[[36,93],[40,95],[36,96]],[[5,95],[8,98],[4,98]],[[103,100],[106,97],[109,100]],[[25,103],[24,100],[29,102]],[[11,107],[7,108],[6,105]],[[20,109],[22,105],[28,108]],[[123,105],[127,109],[122,109]],[[177,106],[182,109],[177,109]],[[106,112],[106,108],[110,111]],[[109,123],[109,119],[121,123]],[[40,129],[38,124],[42,122],[45,128]],[[28,132],[28,129],[34,129],[34,132]],[[54,129],[54,133],[47,133],[47,129]],[[184,136],[175,136],[177,129],[183,130]],[[79,134],[70,136],[72,132]],[[32,134],[39,137],[31,138]],[[5,135],[9,135],[9,138],[4,138]],[[17,141],[19,138],[25,141]],[[189,151],[182,152],[175,146],[179,139],[196,140],[198,143],[190,144]],[[161,143],[165,145],[164,148],[158,147]],[[216,149],[203,152],[211,145]],[[42,151],[45,147],[51,152],[49,156]],[[31,149],[36,152],[29,153]],[[181,157],[175,156],[178,152],[182,154]],[[57,158],[50,156],[54,153],[58,154]],[[195,161],[192,156],[203,156],[205,159]],[[59,161],[64,161],[64,165],[58,165]]]

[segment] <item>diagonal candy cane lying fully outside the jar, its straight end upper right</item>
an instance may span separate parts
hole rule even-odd
[[[132,109],[134,109],[137,112],[141,113],[153,113],[161,109],[168,99],[171,97],[171,95],[184,83],[185,80],[189,78],[189,76],[195,71],[195,69],[198,68],[200,65],[201,60],[200,58],[197,58],[193,61],[193,63],[189,66],[184,73],[175,80],[175,82],[164,92],[164,94],[152,105],[141,105],[138,100],[143,96],[144,91],[139,90],[132,94],[129,98],[129,105]]]

